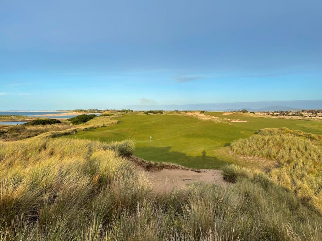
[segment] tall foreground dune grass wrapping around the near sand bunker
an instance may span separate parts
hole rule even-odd
[[[0,142],[0,239],[322,239],[321,214],[261,172],[234,167],[233,185],[160,192],[122,157],[133,147],[62,138]]]

